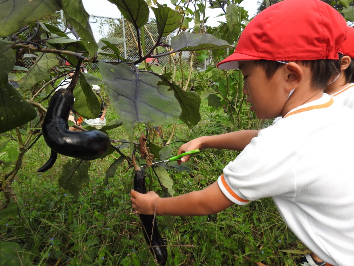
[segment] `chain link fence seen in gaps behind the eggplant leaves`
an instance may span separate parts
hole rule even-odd
[[[124,39],[124,42],[121,44],[116,45],[116,47],[120,51],[120,56],[124,57],[125,59],[135,61],[139,58],[138,53],[138,46],[137,46],[137,32],[135,31],[134,27],[131,27],[130,23],[126,20],[122,20],[121,18],[109,18],[109,17],[98,17],[98,16],[90,16],[90,26],[93,32],[93,36],[95,40],[98,41],[101,38],[108,38],[108,37],[119,37]],[[62,29],[70,38],[76,39],[75,30],[70,30],[66,28],[66,21],[62,11],[58,11],[51,16],[45,17],[41,20],[41,22],[46,22],[56,26],[59,29]],[[28,29],[24,31],[22,34],[24,37],[31,36],[31,30]],[[162,42],[166,44],[171,44],[171,38],[176,34],[176,32],[171,33],[170,35],[163,37]],[[140,33],[140,37],[144,36],[144,43],[145,43],[145,51],[149,52],[155,45],[155,41],[158,39],[158,30],[156,23],[148,22],[144,26],[144,34]],[[142,41],[142,40],[141,40]],[[166,48],[158,47],[158,54],[163,54],[167,52]],[[105,48],[104,52],[113,53],[110,48]],[[154,50],[154,55],[156,53],[156,49]],[[174,65],[176,69],[180,70],[181,66],[183,71],[188,71],[191,66],[190,60],[192,59],[192,69],[193,70],[205,70],[209,64],[211,59],[208,58],[202,62],[198,60],[198,53],[194,52],[192,56],[192,52],[183,51],[182,54],[177,53],[172,57],[170,61],[170,56],[163,56],[157,59],[157,62],[160,66],[166,66],[167,71],[173,71]],[[103,61],[118,61],[113,57],[109,57],[107,55],[98,55],[98,60]],[[17,51],[16,53],[16,65],[22,66],[25,68],[29,68],[32,66],[34,62],[33,55],[27,54],[25,51]],[[64,62],[63,62],[64,64]],[[89,71],[97,71],[98,64],[97,63],[85,63],[85,67]],[[172,69],[170,69],[170,67]]]

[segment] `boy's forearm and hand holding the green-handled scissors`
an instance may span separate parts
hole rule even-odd
[[[240,130],[221,135],[202,136],[183,144],[177,153],[185,153],[195,149],[228,149],[228,150],[243,150],[254,137],[257,137],[261,129]],[[183,156],[181,162],[189,160],[190,155]],[[180,162],[180,161],[178,161]]]

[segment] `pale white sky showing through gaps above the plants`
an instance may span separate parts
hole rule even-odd
[[[159,4],[167,4],[173,8],[170,0],[159,0],[158,2]],[[241,2],[240,6],[249,11],[249,18],[256,14],[257,2],[258,0],[244,0]],[[89,15],[121,18],[120,12],[116,5],[112,4],[108,0],[82,0],[82,3],[84,4],[85,10],[89,13]],[[216,10],[219,11],[219,9],[206,9],[206,16],[209,16],[207,23],[209,26],[218,26],[219,23],[217,23],[217,21],[225,19],[224,17],[216,17],[219,15],[219,12],[215,12]],[[151,13],[153,14],[153,12]]]

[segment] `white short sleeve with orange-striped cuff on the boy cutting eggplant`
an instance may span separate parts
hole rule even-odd
[[[259,132],[258,137],[230,162],[218,178],[223,193],[234,203],[270,196],[295,197],[296,151],[285,132],[275,126]]]

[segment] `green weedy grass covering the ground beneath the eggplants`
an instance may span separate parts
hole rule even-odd
[[[107,122],[115,118],[108,105]],[[211,112],[203,101],[202,121],[193,130],[178,124],[176,139],[230,132],[235,130],[234,124],[222,112]],[[245,118],[242,124],[256,128],[264,127],[267,121]],[[108,133],[111,138],[126,139],[121,128]],[[169,136],[171,127],[166,126],[164,133]],[[161,145],[158,139],[156,144]],[[200,190],[215,182],[237,154],[207,149],[195,155],[197,167],[192,172],[169,171],[175,194]],[[7,156],[0,153],[0,160],[6,161]],[[36,172],[48,156],[49,148],[40,138],[25,155],[12,184],[19,216],[17,208],[10,218],[0,211],[0,265],[155,265],[131,207],[132,171],[126,171],[126,162],[104,185],[105,172],[119,155],[113,153],[93,161],[90,183],[75,199],[58,187],[62,165],[70,158],[59,156],[49,171]],[[153,188],[162,195],[158,182]],[[270,198],[210,216],[156,218],[167,241],[166,265],[292,265],[297,253],[306,250],[287,229]]]

